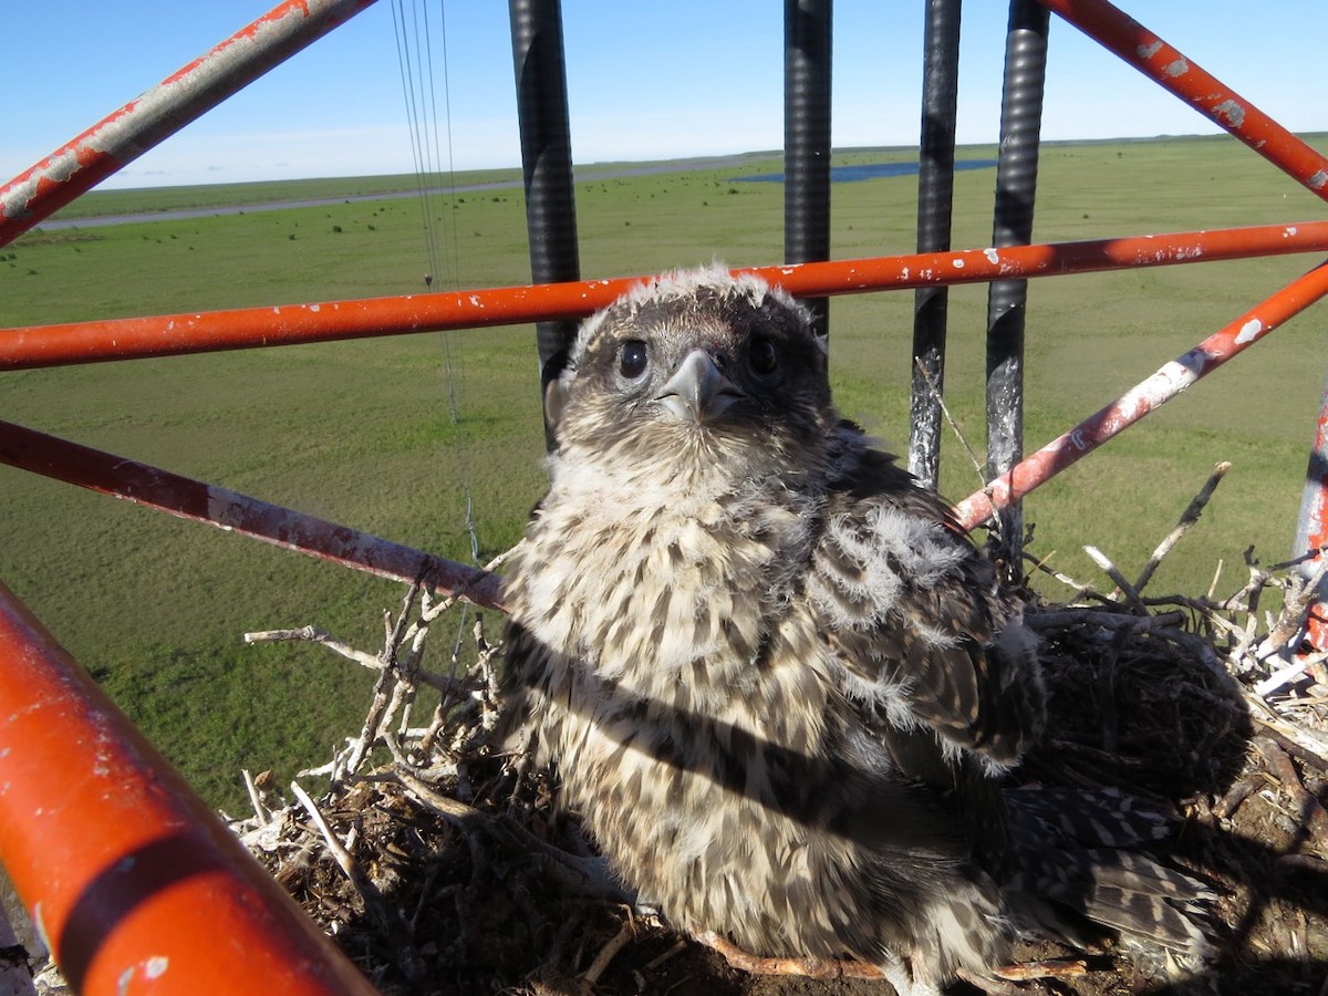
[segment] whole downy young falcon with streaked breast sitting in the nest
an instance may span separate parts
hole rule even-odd
[[[1123,799],[1004,791],[1036,641],[946,505],[830,401],[807,312],[672,274],[588,319],[509,560],[507,722],[643,900],[927,989],[1096,919],[1187,955],[1198,883]]]

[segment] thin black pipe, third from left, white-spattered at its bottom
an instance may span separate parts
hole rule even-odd
[[[918,251],[948,252],[955,201],[961,0],[927,0],[923,29],[922,138],[918,145]],[[908,470],[940,481],[940,393],[946,380],[948,287],[914,292],[912,417]]]

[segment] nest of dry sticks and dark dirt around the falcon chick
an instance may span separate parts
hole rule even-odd
[[[1040,977],[1008,992],[1328,993],[1328,673],[1301,645],[1321,571],[1263,570],[1247,554],[1248,580],[1228,598],[1143,595],[1223,469],[1135,582],[1090,550],[1114,588],[1061,576],[1074,588],[1065,603],[1029,596],[1050,721],[1013,776],[1117,788],[1174,811],[1169,859],[1220,895],[1216,957],[1177,984],[1096,952],[1069,975],[1031,969]],[[1263,612],[1278,595],[1279,611]],[[453,653],[446,675],[422,667],[430,624],[461,611],[412,591],[380,653],[312,627],[247,637],[313,640],[380,672],[360,734],[300,773],[321,794],[246,773],[254,815],[232,823],[380,991],[890,992],[883,981],[748,975],[633,907],[556,814],[546,774],[494,742],[501,648],[482,624],[470,632],[473,664]],[[413,726],[424,688],[441,703]],[[1038,965],[1072,954],[1020,951]]]

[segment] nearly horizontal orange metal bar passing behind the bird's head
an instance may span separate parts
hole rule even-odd
[[[754,267],[799,297],[1328,250],[1328,222]],[[649,278],[0,329],[0,371],[583,317]]]

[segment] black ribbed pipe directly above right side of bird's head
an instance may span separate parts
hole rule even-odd
[[[784,259],[830,259],[831,0],[784,4]],[[829,331],[830,301],[805,301]]]

